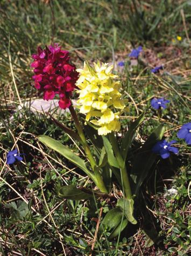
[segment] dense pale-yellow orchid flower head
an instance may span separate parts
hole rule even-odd
[[[78,69],[80,77],[76,82],[79,87],[80,112],[86,114],[86,120],[98,126],[98,134],[107,135],[119,131],[119,112],[125,105],[119,92],[120,82],[114,79],[118,76],[111,73],[114,67],[107,63],[94,63],[91,67],[84,62],[83,69]]]

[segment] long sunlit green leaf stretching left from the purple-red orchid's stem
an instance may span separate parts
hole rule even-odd
[[[66,157],[73,164],[75,164],[77,167],[83,170],[86,174],[88,174],[88,176],[91,179],[94,180],[94,174],[87,169],[85,162],[79,156],[77,156],[74,152],[68,149],[68,147],[62,145],[57,140],[51,137],[48,137],[46,135],[40,135],[38,139],[40,140],[41,143],[45,144],[46,146],[60,153],[62,156]]]

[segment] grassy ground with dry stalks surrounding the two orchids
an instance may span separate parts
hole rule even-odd
[[[90,188],[94,184],[38,143],[37,136],[46,134],[81,155],[46,113],[30,109],[30,99],[41,98],[32,85],[31,53],[38,45],[58,42],[78,67],[84,59],[115,62],[129,106],[123,129],[139,113],[146,113],[132,156],[159,124],[150,105],[153,96],[171,100],[160,122],[166,123],[165,137],[177,139],[176,132],[190,119],[189,1],[33,0],[1,1],[0,5],[0,253],[90,255],[94,245],[92,255],[189,255],[190,147],[183,140],[177,143],[178,156],[158,158],[152,167],[142,186],[138,224],[121,233],[117,247],[117,240],[108,241],[109,231],[94,241],[98,209],[102,208],[103,218],[116,199],[101,198],[96,205],[94,200],[59,197],[59,188],[65,184]],[[133,66],[127,55],[138,45],[143,45],[144,52]],[[125,68],[119,68],[117,62],[124,59]],[[164,71],[153,75],[150,69],[158,63],[164,64]],[[27,105],[19,109],[20,102]],[[69,114],[54,117],[75,129]],[[6,165],[6,153],[16,146],[26,154],[24,161]],[[118,197],[115,182],[113,192]]]

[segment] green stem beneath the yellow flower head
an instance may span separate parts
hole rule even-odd
[[[126,166],[124,164],[124,160],[123,160],[123,158],[121,156],[121,153],[119,151],[117,141],[116,141],[116,138],[115,138],[115,135],[114,135],[113,132],[109,134],[109,138],[110,138],[111,145],[112,145],[112,147],[114,149],[114,152],[115,152],[117,163],[118,163],[118,165],[121,169],[122,184],[123,184],[124,191],[125,191],[125,197],[127,199],[131,199],[132,193],[131,193],[131,186],[130,186],[128,172],[126,171]]]

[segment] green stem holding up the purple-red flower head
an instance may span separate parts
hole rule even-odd
[[[100,188],[100,190],[104,193],[108,193],[107,191],[107,188],[105,187],[105,184],[103,183],[103,179],[101,177],[101,174],[99,172],[99,170],[96,168],[96,162],[94,160],[94,157],[93,155],[91,154],[91,150],[90,150],[90,147],[87,143],[87,140],[86,140],[86,137],[84,136],[84,133],[83,133],[83,130],[82,130],[82,126],[79,122],[79,119],[77,118],[77,114],[74,110],[74,107],[73,105],[70,105],[69,106],[69,111],[70,113],[72,114],[72,117],[74,119],[74,123],[76,125],[76,128],[77,128],[77,131],[79,133],[79,136],[81,138],[81,143],[82,143],[82,146],[83,146],[83,149],[84,151],[86,152],[86,155],[89,159],[89,162],[90,162],[90,165],[91,165],[91,168],[93,169],[93,171],[95,172],[95,179],[94,179],[94,182],[96,184],[96,186],[98,188]]]

